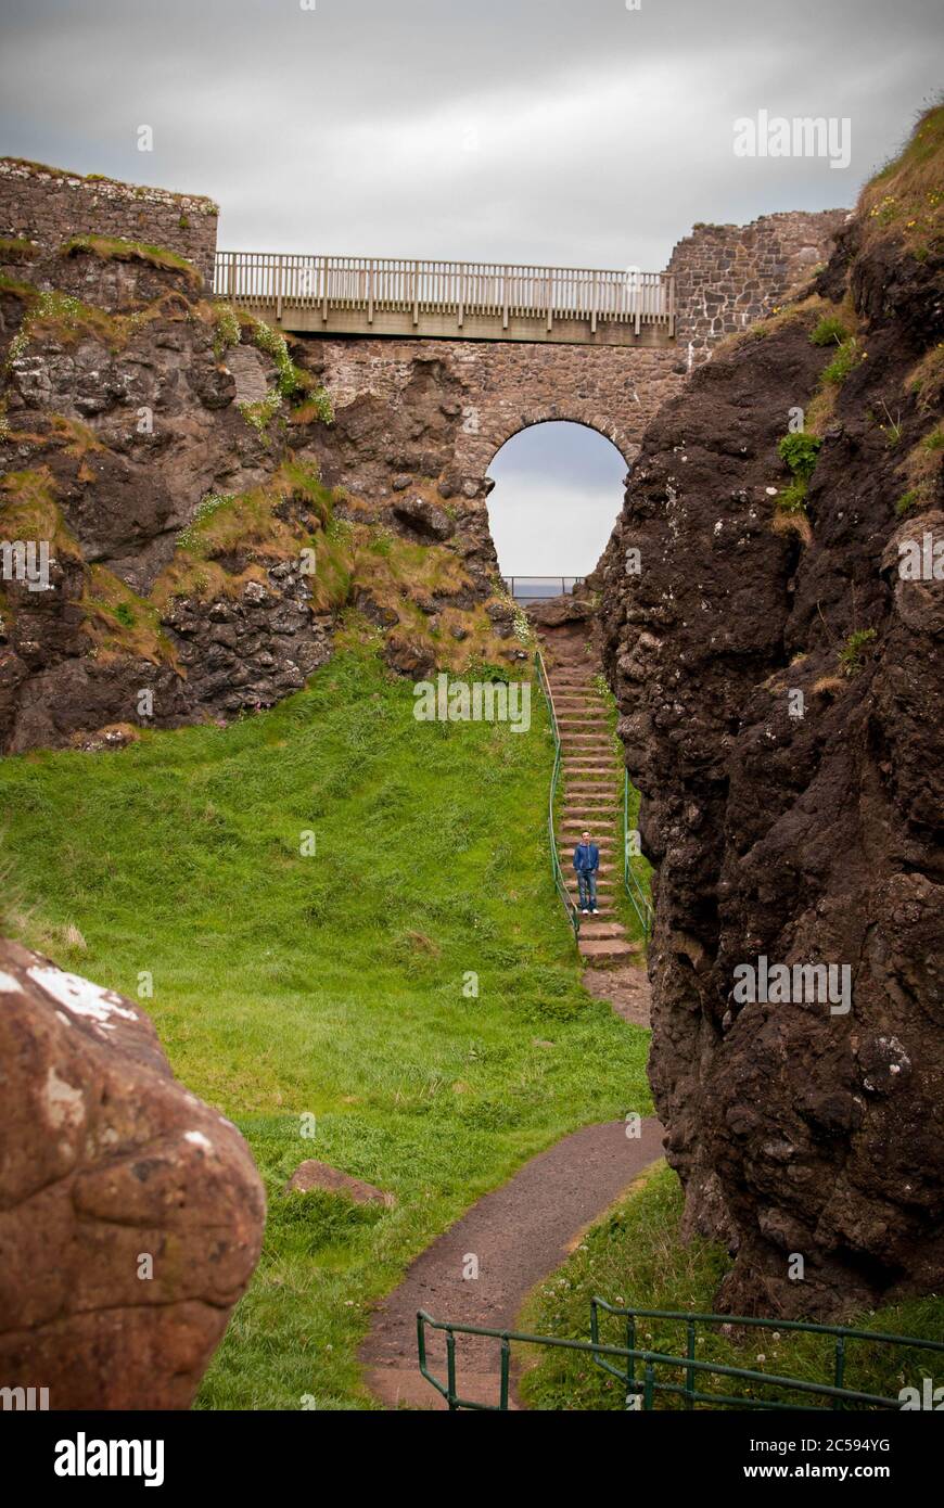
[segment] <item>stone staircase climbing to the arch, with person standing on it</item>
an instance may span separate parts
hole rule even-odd
[[[556,829],[558,855],[564,882],[578,905],[573,849],[584,829],[590,831],[600,851],[599,915],[581,917],[578,947],[588,964],[629,961],[641,949],[630,939],[615,909],[623,870],[614,831],[623,784],[614,760],[609,712],[593,683],[599,671],[596,662],[582,645],[578,653],[567,650],[570,644],[553,644],[556,665],[547,671],[561,734],[564,801]]]

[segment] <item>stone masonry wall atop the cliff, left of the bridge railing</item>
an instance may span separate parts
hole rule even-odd
[[[217,214],[213,199],[202,195],[0,158],[0,235],[27,235],[47,252],[81,234],[145,241],[187,256],[210,285]]]

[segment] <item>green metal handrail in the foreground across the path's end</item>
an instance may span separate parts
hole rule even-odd
[[[633,1344],[632,1345],[606,1345],[599,1339],[599,1321],[597,1309],[605,1309],[609,1313],[618,1313],[624,1318],[632,1318],[633,1321]],[[683,1320],[689,1326],[689,1341],[686,1345],[686,1356],[670,1356],[662,1351],[650,1351],[638,1348],[635,1345],[635,1321],[636,1320]],[[802,1377],[780,1377],[774,1372],[756,1372],[746,1366],[727,1366],[722,1362],[700,1362],[694,1356],[694,1327],[697,1324],[730,1324],[730,1326],[763,1326],[772,1330],[804,1330],[814,1335],[834,1335],[837,1336],[837,1351],[835,1351],[835,1375],[832,1383],[810,1383]],[[654,1396],[657,1392],[674,1393],[686,1399],[686,1407],[692,1407],[694,1402],[710,1402],[710,1404],[728,1404],[739,1408],[774,1408],[774,1410],[789,1410],[801,1411],[804,1404],[786,1404],[780,1401],[745,1398],[725,1393],[701,1393],[695,1387],[695,1374],[709,1372],[718,1377],[739,1377],[751,1383],[763,1383],[769,1387],[789,1387],[793,1392],[808,1393],[814,1398],[828,1398],[832,1401],[832,1408],[840,1408],[843,1402],[860,1402],[872,1405],[875,1408],[900,1408],[900,1398],[885,1398],[881,1393],[863,1393],[854,1387],[843,1387],[844,1375],[844,1347],[849,1339],[861,1341],[879,1341],[888,1345],[908,1345],[924,1351],[944,1351],[942,1341],[921,1341],[917,1336],[908,1335],[884,1335],[881,1330],[851,1330],[846,1326],[819,1326],[807,1324],[799,1320],[777,1320],[777,1318],[745,1318],[740,1315],[703,1315],[703,1313],[685,1313],[683,1310],[671,1309],[632,1309],[627,1310],[623,1306],[608,1304],[605,1298],[591,1300],[591,1339],[590,1341],[572,1341],[564,1336],[553,1335],[528,1335],[520,1330],[490,1330],[484,1326],[474,1324],[452,1324],[448,1320],[434,1320],[433,1315],[427,1313],[425,1309],[416,1312],[416,1350],[419,1356],[419,1371],[421,1375],[440,1393],[451,1410],[458,1408],[475,1408],[484,1413],[505,1413],[508,1410],[508,1392],[510,1392],[510,1371],[511,1371],[511,1345],[520,1342],[525,1345],[549,1345],[556,1350],[565,1351],[588,1351],[593,1360],[602,1366],[605,1371],[618,1377],[626,1386],[627,1399],[632,1398],[635,1407],[635,1399],[641,1398],[642,1408],[651,1410]],[[430,1330],[442,1330],[446,1336],[446,1381],[440,1381],[427,1363],[427,1327]],[[475,1335],[486,1336],[487,1339],[501,1341],[501,1362],[499,1362],[499,1401],[498,1404],[484,1404],[472,1398],[463,1398],[455,1387],[455,1336],[457,1335]],[[609,1357],[621,1357],[626,1360],[626,1371],[609,1365]],[[642,1362],[644,1375],[638,1380],[635,1375],[635,1363]],[[657,1383],[654,1377],[656,1366],[670,1366],[685,1371],[686,1384],[680,1387],[673,1383]]]

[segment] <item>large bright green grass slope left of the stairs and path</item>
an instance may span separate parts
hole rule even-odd
[[[228,730],[0,762],[14,930],[133,998],[152,976],[142,1004],[175,1072],[240,1125],[268,1187],[202,1407],[369,1407],[356,1347],[406,1264],[567,1131],[650,1110],[647,1033],[579,985],[550,762],[537,694],[529,733],[418,722],[354,635]],[[397,1206],[284,1197],[309,1157]]]

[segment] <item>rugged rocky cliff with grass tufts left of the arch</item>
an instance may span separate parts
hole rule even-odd
[[[318,342],[178,252],[8,229],[0,751],[270,706],[342,621],[406,674],[522,656],[481,499],[437,481],[461,403],[425,354],[332,412]]]

